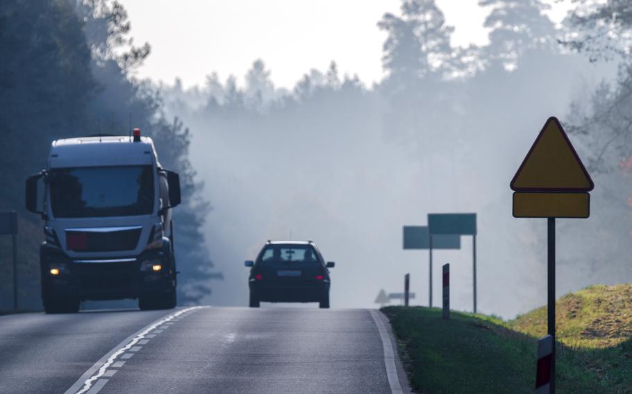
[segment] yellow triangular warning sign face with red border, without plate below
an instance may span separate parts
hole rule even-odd
[[[510,183],[514,191],[590,191],[588,171],[556,117],[550,117]]]

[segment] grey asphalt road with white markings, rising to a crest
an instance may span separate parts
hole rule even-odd
[[[397,393],[384,323],[363,309],[0,316],[0,393]]]

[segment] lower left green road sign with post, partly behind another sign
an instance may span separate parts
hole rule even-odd
[[[428,306],[432,307],[432,250],[434,249],[460,249],[461,239],[458,234],[430,234],[425,225],[404,226],[404,249],[428,249],[429,250],[429,275],[428,275]]]

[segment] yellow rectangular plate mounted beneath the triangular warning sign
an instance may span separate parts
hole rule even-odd
[[[588,193],[529,193],[513,194],[515,218],[578,218],[590,216]]]

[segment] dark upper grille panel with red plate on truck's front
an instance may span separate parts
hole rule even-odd
[[[114,252],[138,246],[141,226],[121,230],[67,229],[66,248],[76,252]]]

